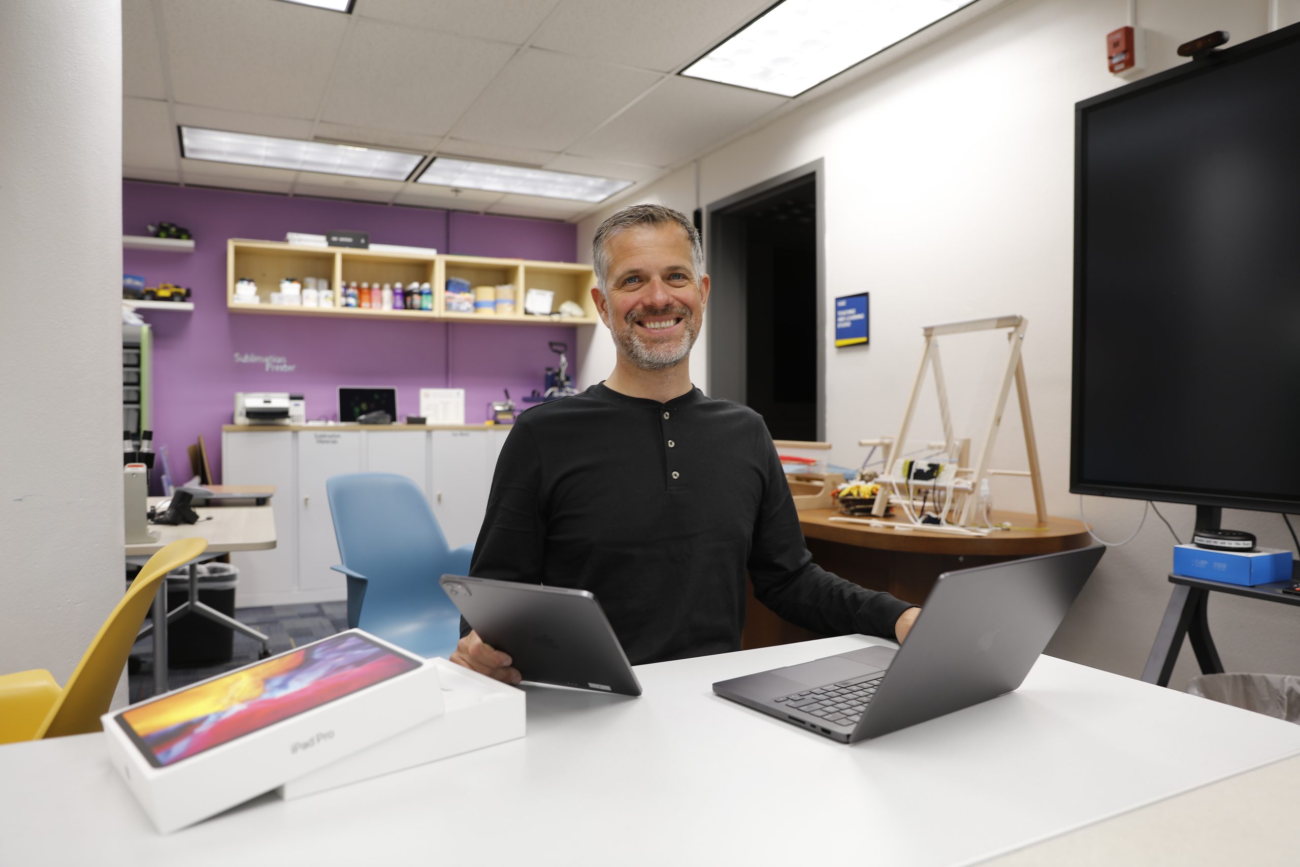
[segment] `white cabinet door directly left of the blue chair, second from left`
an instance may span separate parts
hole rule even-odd
[[[256,434],[252,434],[256,435]],[[325,481],[330,476],[361,472],[361,433],[358,430],[304,430],[298,434],[298,589],[337,589],[347,597],[339,572],[338,543],[329,512]]]

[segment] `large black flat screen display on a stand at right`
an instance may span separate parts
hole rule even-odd
[[[1078,105],[1071,490],[1300,506],[1300,26]]]

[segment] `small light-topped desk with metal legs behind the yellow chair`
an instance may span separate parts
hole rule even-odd
[[[237,490],[230,487],[224,489],[220,485],[213,485],[213,489]],[[274,487],[268,489],[266,486],[261,486],[251,489],[274,493]],[[150,506],[157,506],[164,499],[162,497],[151,497]],[[195,508],[194,511],[199,515],[198,524],[150,524],[150,530],[157,534],[155,541],[126,545],[126,556],[135,563],[143,563],[172,542],[188,538],[208,541],[208,547],[203,555],[190,562],[190,595],[186,603],[179,608],[169,611],[166,604],[166,581],[164,581],[159,585],[157,594],[153,597],[153,623],[140,630],[140,638],[146,637],[150,632],[153,633],[155,695],[168,692],[168,624],[190,611],[214,620],[229,629],[235,629],[251,638],[256,638],[263,642],[264,654],[269,654],[266,636],[199,602],[198,578],[194,571],[198,563],[211,560],[222,554],[231,551],[265,551],[276,547],[276,516],[270,511],[269,502],[264,502],[261,506],[214,506],[211,508]]]

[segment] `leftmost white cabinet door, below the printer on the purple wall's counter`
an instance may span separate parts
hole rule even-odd
[[[280,604],[298,589],[298,508],[294,493],[294,437],[285,432],[225,433],[221,460],[228,485],[274,485],[270,510],[276,516],[276,547],[230,555],[239,569],[239,606]]]

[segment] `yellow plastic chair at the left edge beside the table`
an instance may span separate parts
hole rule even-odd
[[[151,556],[62,689],[43,668],[0,676],[0,744],[103,731],[99,718],[113,701],[159,582],[207,547],[207,539],[179,539]]]

